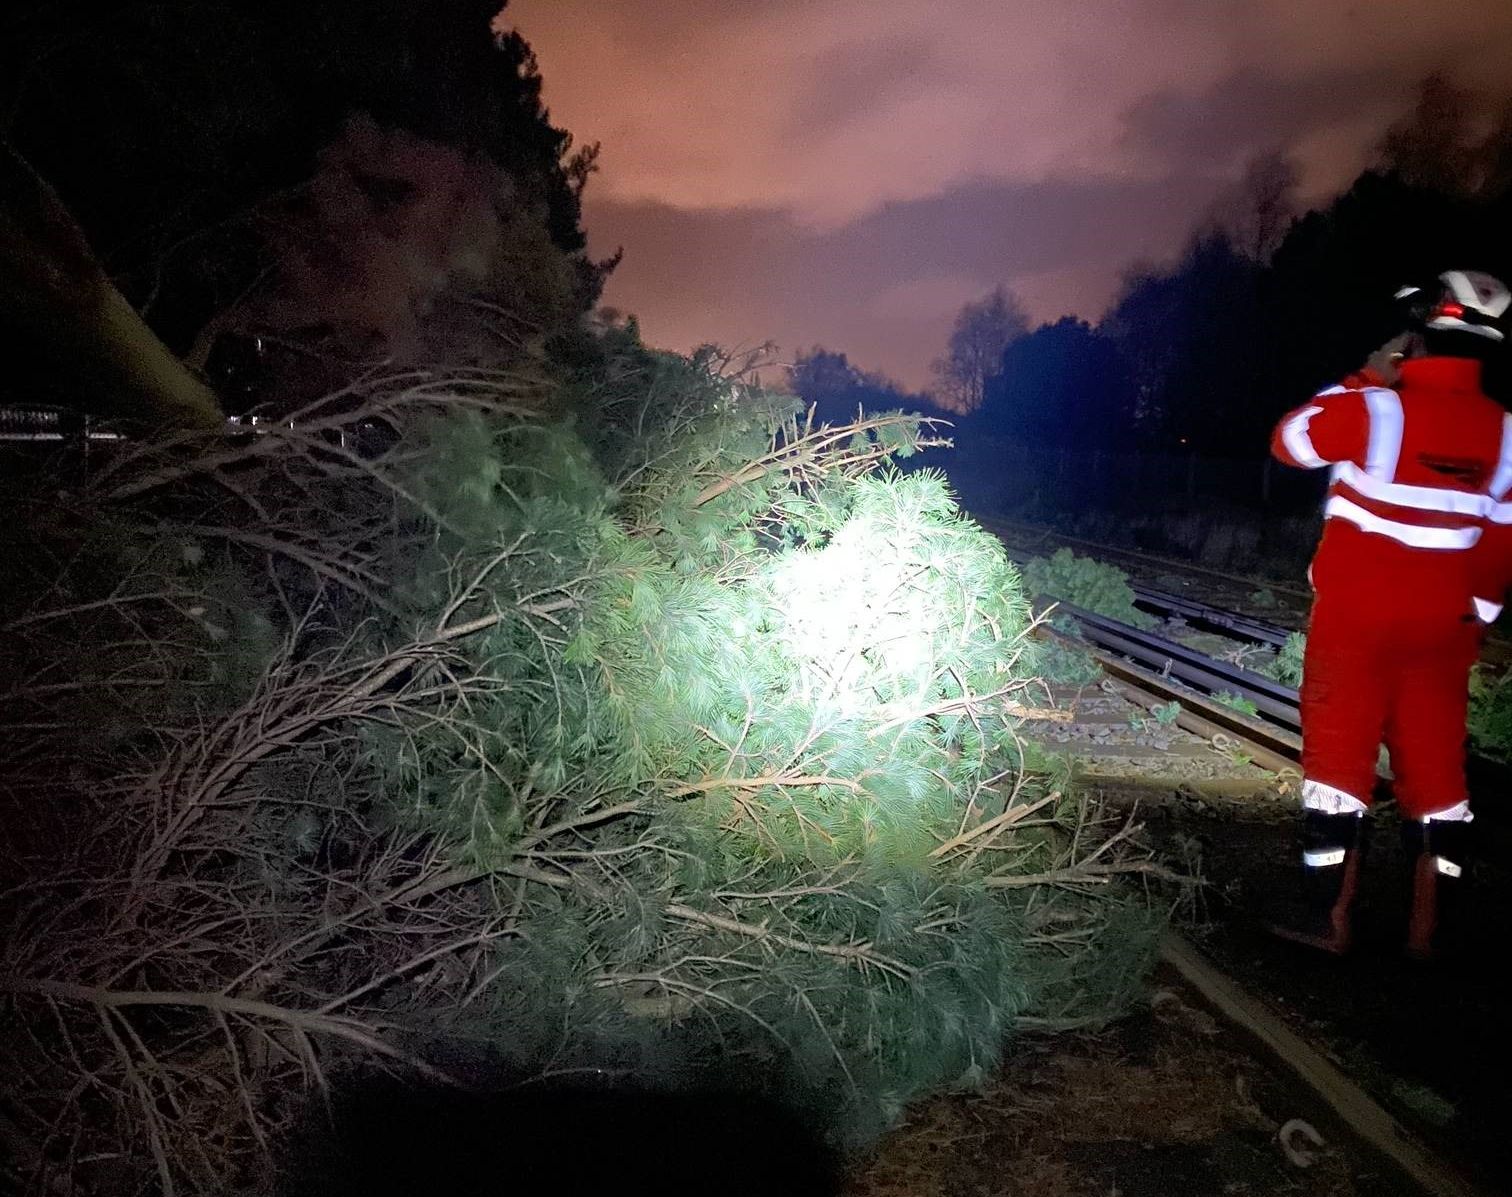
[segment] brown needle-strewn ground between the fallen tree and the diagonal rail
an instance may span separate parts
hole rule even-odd
[[[1411,1192],[1312,1096],[1173,976],[1099,1034],[1024,1040],[983,1093],[913,1109],[848,1197],[1175,1197]],[[1302,1118],[1321,1147],[1288,1159]]]

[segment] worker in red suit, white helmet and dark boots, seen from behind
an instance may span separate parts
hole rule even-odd
[[[1409,955],[1435,951],[1468,861],[1465,715],[1483,629],[1512,580],[1512,416],[1486,397],[1512,293],[1450,271],[1403,289],[1412,331],[1276,426],[1287,466],[1331,467],[1302,683],[1305,902],[1275,925],[1350,943],[1364,813],[1390,751],[1414,858]]]

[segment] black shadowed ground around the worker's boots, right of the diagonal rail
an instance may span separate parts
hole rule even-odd
[[[1483,845],[1494,848],[1503,828],[1491,818],[1483,822]],[[1512,877],[1483,852],[1445,911],[1452,933],[1445,958],[1414,964],[1402,954],[1409,878],[1399,828],[1390,810],[1376,812],[1373,824],[1356,946],[1343,960],[1275,940],[1264,929],[1267,916],[1285,913],[1299,883],[1290,819],[1240,822],[1167,807],[1148,827],[1187,860],[1201,860],[1208,886],[1187,933],[1202,949],[1325,1046],[1429,1146],[1486,1191],[1509,1192],[1512,1019],[1503,976]]]

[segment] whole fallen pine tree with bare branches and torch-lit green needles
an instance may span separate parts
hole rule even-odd
[[[856,1147],[1114,1016],[1173,878],[1021,741],[1034,617],[928,441],[611,331],[11,496],[14,1177],[266,1191],[375,1070]]]

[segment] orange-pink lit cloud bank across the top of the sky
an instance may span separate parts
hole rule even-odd
[[[1234,103],[1294,118],[1291,88],[1323,109],[1400,103],[1427,70],[1485,76],[1512,45],[1504,0],[1462,0],[1452,17],[1435,0],[514,0],[507,12],[541,56],[556,115],[605,139],[615,198],[770,204],[821,225],[974,175],[1145,174],[1125,119],[1155,95],[1223,101],[1228,86]]]

